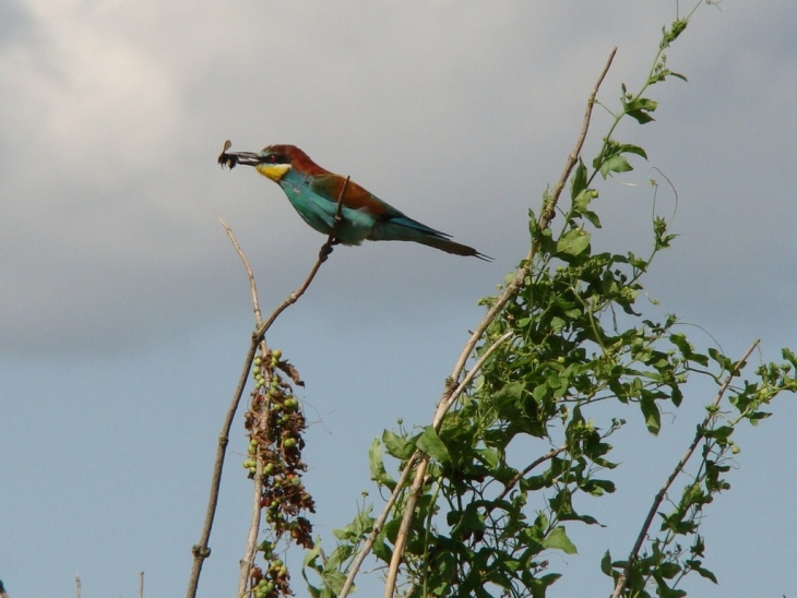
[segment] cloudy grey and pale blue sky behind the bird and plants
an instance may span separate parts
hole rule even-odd
[[[681,3],[681,11],[689,10]],[[179,596],[199,539],[216,439],[253,325],[304,280],[323,238],[233,150],[304,148],[409,216],[493,256],[412,243],[338,248],[269,334],[307,386],[307,485],[329,542],[371,492],[367,450],[398,418],[426,424],[443,380],[525,255],[526,214],[559,177],[585,98],[644,79],[669,0],[606,2],[104,2],[0,5],[0,579],[12,598]],[[602,182],[596,248],[642,252],[653,192],[679,235],[649,292],[695,343],[754,361],[797,347],[792,182],[797,4],[702,7],[651,91],[656,122],[617,136],[650,163]],[[597,107],[586,155],[608,116]],[[655,168],[656,170],[653,170]],[[709,336],[711,335],[711,336]],[[549,596],[609,595],[599,555],[627,553],[649,499],[682,453],[711,390],[695,386],[658,439],[628,431],[606,528]],[[797,587],[795,397],[739,431],[733,490],[704,522],[700,596]],[[629,412],[629,419],[633,414]],[[619,445],[620,442],[617,442]],[[231,596],[249,521],[234,426],[200,596]],[[620,448],[618,448],[619,451]],[[295,589],[300,574],[294,570]],[[379,573],[362,584],[378,588]],[[369,586],[368,584],[372,584]],[[376,593],[376,589],[373,590]]]

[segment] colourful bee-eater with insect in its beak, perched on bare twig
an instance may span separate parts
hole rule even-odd
[[[290,205],[308,225],[323,235],[334,230],[337,243],[414,241],[455,255],[492,260],[472,247],[451,240],[451,235],[414,220],[356,182],[322,168],[295,145],[269,145],[258,153],[228,152],[230,142],[226,141],[218,156],[222,167],[253,166],[282,188]]]

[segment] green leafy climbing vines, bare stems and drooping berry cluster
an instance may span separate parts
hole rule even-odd
[[[598,523],[576,510],[579,497],[605,497],[616,489],[610,440],[621,440],[618,432],[628,426],[618,414],[638,407],[647,432],[656,435],[663,409],[682,404],[693,376],[712,381],[716,393],[640,522],[635,543],[619,559],[605,553],[600,569],[610,581],[600,593],[685,596],[682,582],[692,573],[716,583],[704,566],[703,512],[729,489],[737,428],[757,424],[768,417],[774,397],[797,391],[797,356],[784,349],[783,363],[750,372],[748,358],[757,342],[741,356],[714,347],[701,351],[676,315],[647,314],[658,310],[645,294],[645,275],[675,239],[664,217],[652,219],[645,255],[594,252],[592,246],[602,229],[596,207],[602,181],[647,159],[645,150],[616,137],[617,125],[628,118],[639,124],[653,121],[657,103],[649,97],[651,87],[685,80],[670,71],[665,52],[697,8],[663,29],[639,89],[622,86],[603,144],[590,159],[582,148],[614,52],[609,57],[559,181],[545,193],[539,214],[530,211],[527,256],[497,296],[483,300],[486,315],[445,381],[431,423],[400,424],[374,440],[371,478],[390,498],[378,515],[364,504],[335,531],[337,543],[329,552],[312,539],[313,502],[301,481],[305,423],[293,396],[301,381],[264,343],[276,315],[266,324],[258,315],[245,367],[248,373],[254,363],[246,419],[250,456],[243,465],[255,493],[239,595],[290,594],[278,547],[293,542],[308,550],[302,573],[318,598],[348,595],[369,555],[386,572],[389,597],[543,597],[560,577],[546,555],[574,553],[572,526]],[[322,251],[301,292],[330,249]],[[250,279],[257,308],[251,271]],[[238,395],[242,388],[241,382]],[[520,454],[527,458],[519,461]],[[269,539],[258,541],[261,513],[270,531]],[[200,566],[205,550],[206,541],[194,547]],[[254,564],[258,559],[262,564]]]

